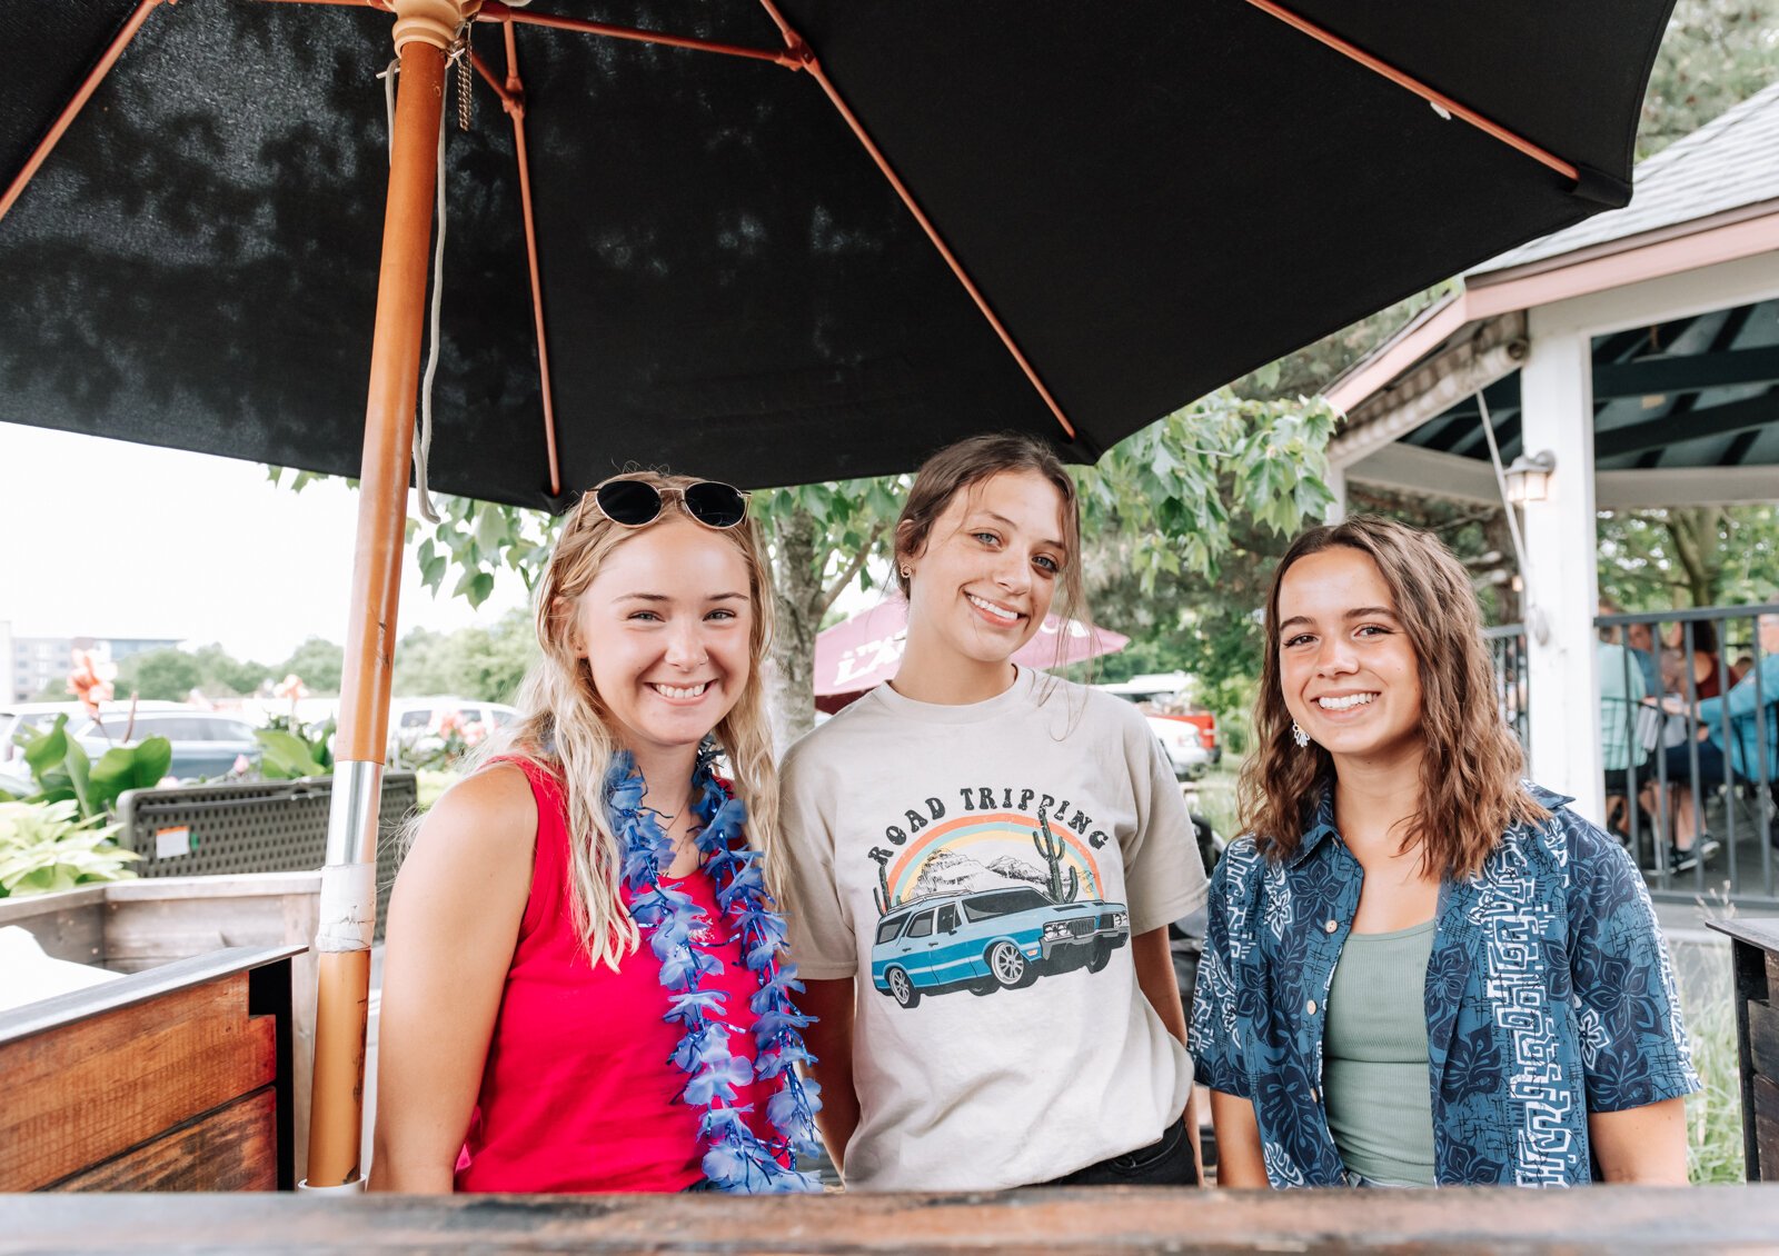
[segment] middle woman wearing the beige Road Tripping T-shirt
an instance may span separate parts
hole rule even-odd
[[[1067,471],[1019,436],[936,454],[895,568],[895,680],[783,776],[829,1151],[856,1190],[1192,1183],[1179,788],[1133,706],[1012,662],[1082,601]]]

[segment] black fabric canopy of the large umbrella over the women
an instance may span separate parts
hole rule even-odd
[[[0,180],[135,4],[0,9]],[[632,461],[806,482],[982,429],[1098,457],[1621,203],[1670,4],[786,0],[790,48],[744,0],[484,5],[763,59],[516,30],[553,423],[514,132],[479,80],[450,137],[432,482],[560,507]],[[471,46],[498,84],[493,25]],[[358,473],[388,27],[148,16],[0,219],[0,422]]]

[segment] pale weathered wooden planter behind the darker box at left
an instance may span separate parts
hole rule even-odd
[[[308,946],[318,929],[320,884],[320,872],[114,881],[55,895],[0,898],[0,927],[21,925],[53,959],[148,977],[224,948],[297,948],[285,962],[292,1062],[279,1076],[290,1089],[292,1149],[302,1163],[308,1155],[315,1050],[315,955]],[[91,1007],[98,1007],[123,986],[125,982],[107,982],[80,991],[78,996],[64,994],[62,1000],[87,998],[93,1000]],[[0,1023],[62,1000],[28,1003],[0,1014]],[[0,1080],[9,1087],[14,1083],[11,1067],[4,1062]],[[12,1101],[0,1107],[11,1110]],[[0,1128],[0,1147],[5,1140],[7,1133]],[[18,1187],[0,1183],[0,1190]]]

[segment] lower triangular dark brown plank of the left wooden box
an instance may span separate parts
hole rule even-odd
[[[278,1092],[254,1091],[48,1190],[278,1190]]]

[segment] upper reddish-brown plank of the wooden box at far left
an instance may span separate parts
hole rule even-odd
[[[121,984],[121,982],[117,982]],[[272,1083],[242,971],[0,1044],[0,1190],[36,1190]]]

